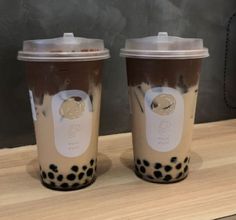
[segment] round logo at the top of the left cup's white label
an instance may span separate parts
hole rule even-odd
[[[60,115],[67,119],[76,119],[84,112],[85,104],[82,100],[76,101],[75,98],[65,100],[60,107]]]

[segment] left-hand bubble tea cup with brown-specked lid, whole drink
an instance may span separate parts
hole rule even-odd
[[[25,41],[25,61],[42,183],[74,190],[96,178],[103,60],[99,39],[74,37]]]

